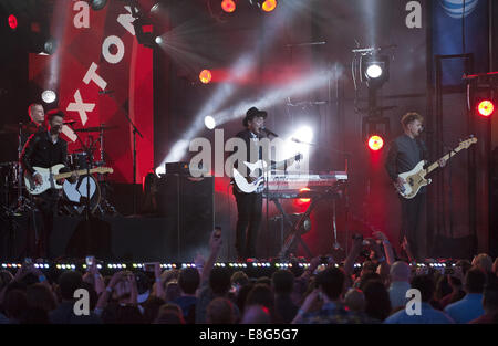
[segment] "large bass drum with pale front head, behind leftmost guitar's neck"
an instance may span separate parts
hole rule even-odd
[[[90,210],[94,212],[101,202],[101,187],[93,176],[80,177],[74,184],[65,180],[62,185],[63,205],[79,214],[84,211],[86,206],[87,184],[90,184]]]

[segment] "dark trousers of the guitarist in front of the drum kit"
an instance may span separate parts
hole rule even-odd
[[[34,218],[33,220],[34,237],[31,237],[29,240],[29,252],[31,256],[50,258],[50,234],[52,233],[53,218],[58,208],[59,190],[49,189],[33,199],[41,218]]]

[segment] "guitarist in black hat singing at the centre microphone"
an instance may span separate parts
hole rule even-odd
[[[263,125],[267,118],[267,112],[259,111],[256,107],[250,108],[246,113],[242,120],[245,130],[239,132],[236,137],[243,139],[247,148],[247,160],[256,162],[263,159],[262,146],[259,146],[259,140],[264,138]],[[258,157],[252,158],[250,153],[257,153]],[[252,156],[255,156],[252,154]],[[236,162],[237,165],[237,162]],[[249,170],[245,167],[237,167],[238,171],[247,177],[250,181]],[[236,229],[236,250],[239,261],[245,261],[248,258],[256,256],[256,242],[258,239],[258,230],[262,217],[262,191],[255,191],[252,193],[245,193],[238,190],[234,185],[234,196],[237,201],[237,229]]]

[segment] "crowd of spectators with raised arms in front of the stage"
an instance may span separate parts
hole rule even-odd
[[[366,242],[355,238],[343,263],[318,256],[305,270],[294,265],[249,277],[215,265],[221,242],[214,232],[210,253],[197,259],[196,268],[163,271],[156,263],[151,275],[120,271],[103,276],[96,264],[85,273],[65,271],[56,277],[28,263],[14,275],[1,271],[0,323],[498,323],[498,260],[487,254],[459,260],[444,271],[411,265],[409,260],[396,260],[387,238],[376,232]],[[81,289],[87,292],[89,312],[77,314],[75,292]],[[413,297],[418,297],[418,307]]]

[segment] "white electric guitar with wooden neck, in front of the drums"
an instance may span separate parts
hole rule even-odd
[[[33,176],[30,174],[24,175],[24,184],[28,192],[31,195],[40,195],[48,189],[62,189],[62,185],[58,184],[58,180],[70,178],[73,172],[75,172],[77,176],[86,176],[89,174],[112,174],[114,170],[110,167],[97,167],[90,169],[90,172],[86,169],[80,169],[69,172],[60,174],[59,171],[64,168],[64,165],[55,165],[50,168],[42,168],[42,167],[33,167],[35,171],[38,171],[42,177],[42,184],[37,185],[34,182]]]

